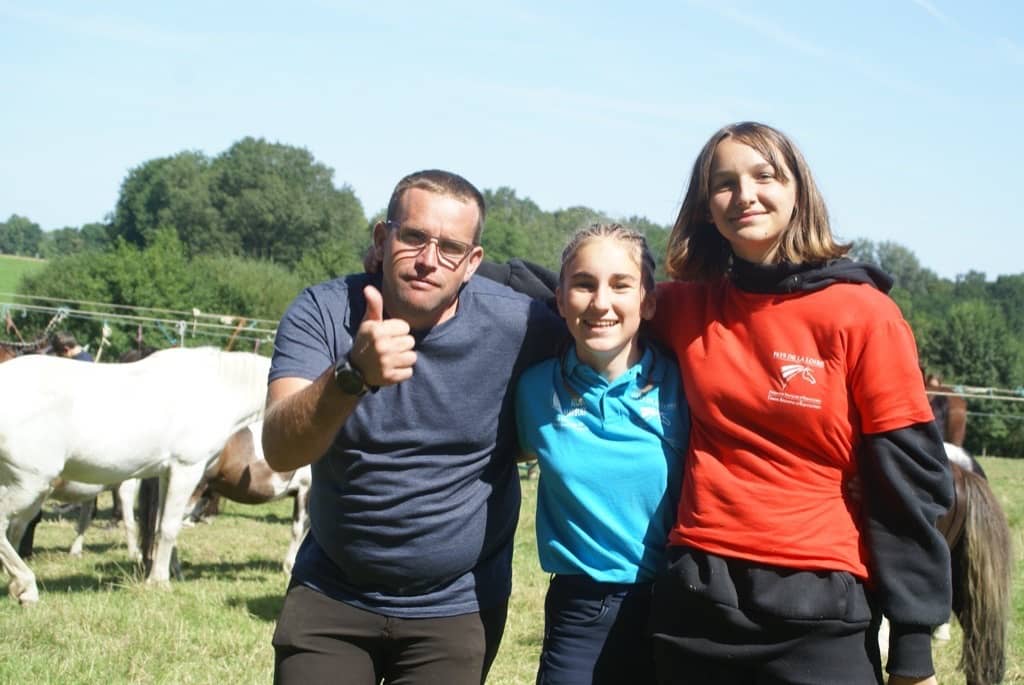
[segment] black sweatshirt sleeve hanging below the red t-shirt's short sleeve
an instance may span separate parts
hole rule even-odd
[[[953,501],[935,423],[864,436],[860,459],[870,571],[891,623],[890,674],[927,677],[931,633],[949,619],[949,548],[935,523]]]

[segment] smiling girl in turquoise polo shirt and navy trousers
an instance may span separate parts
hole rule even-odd
[[[540,685],[648,685],[651,584],[666,564],[689,416],[675,358],[640,335],[654,259],[618,224],[578,231],[556,293],[573,343],[516,389],[523,456],[541,465],[537,547],[552,574]]]

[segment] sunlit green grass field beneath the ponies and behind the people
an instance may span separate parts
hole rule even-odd
[[[1024,460],[984,459],[1014,531],[1014,617],[1007,683],[1024,683]],[[536,560],[536,482],[523,482],[515,586],[501,652],[488,682],[532,683],[543,627],[547,576]],[[110,498],[101,499],[109,509]],[[170,590],[145,587],[125,553],[119,528],[89,531],[85,555],[67,547],[73,521],[48,514],[32,560],[41,601],[31,608],[0,602],[0,683],[217,683],[270,681],[270,635],[287,582],[291,503],[227,503],[213,523],[186,528],[180,540],[185,581]],[[6,581],[5,581],[6,582]],[[958,629],[936,642],[940,683],[955,672]]]

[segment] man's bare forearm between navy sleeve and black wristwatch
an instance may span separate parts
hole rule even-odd
[[[301,389],[297,381],[279,379],[267,392],[263,453],[274,471],[292,471],[323,457],[359,401],[341,391],[333,369]]]

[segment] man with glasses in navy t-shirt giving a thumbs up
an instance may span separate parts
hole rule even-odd
[[[520,497],[510,382],[564,329],[473,277],[483,219],[461,176],[407,176],[374,226],[379,272],[308,288],[281,322],[263,446],[313,484],[275,682],[486,677]]]

